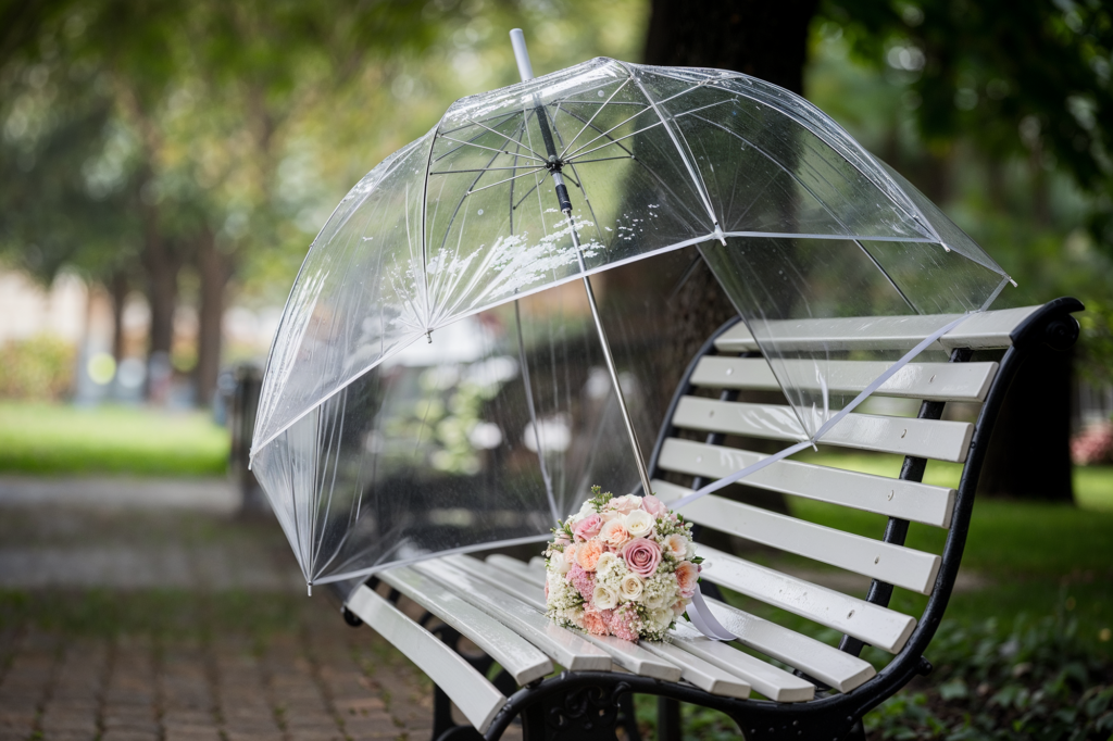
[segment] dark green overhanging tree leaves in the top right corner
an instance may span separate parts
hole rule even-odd
[[[969,3],[828,0],[863,59],[904,76],[926,141],[963,137],[1030,154],[1099,195],[1113,216],[1113,10],[1101,0]],[[1109,243],[1113,246],[1113,240]]]

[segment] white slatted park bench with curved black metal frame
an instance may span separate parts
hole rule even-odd
[[[765,546],[805,556],[873,580],[865,599],[730,553],[700,546],[710,567],[705,594],[731,590],[843,634],[820,642],[771,620],[709,599],[711,611],[748,651],[703,638],[678,621],[667,643],[628,643],[558,628],[544,615],[544,562],[506,555],[485,561],[437,557],[380,572],[345,609],[408,656],[437,686],[434,739],[500,738],[521,718],[528,739],[614,739],[615,725],[637,739],[631,693],[658,695],[659,738],[679,738],[679,701],[730,715],[748,741],[766,738],[859,737],[861,717],[926,674],[924,651],[951,596],[969,526],[975,488],[994,419],[1024,357],[1070,347],[1071,316],[1082,305],[1056,299],[1042,307],[987,312],[969,318],[938,344],[949,363],[912,363],[877,392],[922,402],[916,418],[851,413],[824,444],[905,456],[897,478],[790,460],[745,481],[751,487],[877,513],[888,517],[879,539],[863,537],[788,515],[707,495],[684,507],[686,518]],[[801,320],[794,342],[806,349],[906,350],[928,336],[937,318]],[[865,329],[864,329],[865,328]],[[784,336],[786,332],[781,332]],[[1005,349],[999,362],[971,362],[974,350]],[[885,368],[868,360],[833,360],[831,391],[860,392]],[[798,439],[768,424],[785,407],[735,401],[739,392],[778,391],[754,338],[728,323],[692,360],[653,451],[650,475],[659,497],[677,500],[757,461],[758,453],[726,445],[737,438]],[[698,395],[696,395],[698,394]],[[946,402],[981,403],[974,424],[940,419]],[[771,408],[772,407],[772,408]],[[756,418],[766,421],[755,424]],[[688,431],[683,438],[681,431]],[[692,439],[692,432],[696,437]],[[922,483],[927,460],[964,464],[957,490]],[[908,524],[947,531],[942,553],[904,547]],[[893,589],[928,595],[923,614],[887,605]],[[381,592],[390,590],[390,595]],[[442,641],[395,604],[404,595],[444,624]],[[463,635],[485,652],[477,662],[454,650]],[[878,671],[859,656],[864,645],[893,654]],[[502,669],[489,681],[490,662]],[[556,670],[560,669],[558,673]],[[521,689],[518,689],[521,688]],[[760,696],[758,696],[760,695]],[[450,719],[451,700],[470,725]]]

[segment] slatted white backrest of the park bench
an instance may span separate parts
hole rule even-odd
[[[1035,345],[1041,345],[1048,339],[1045,336],[1048,332],[1070,335],[1070,327],[1048,329],[1048,326],[1064,318],[1073,323],[1068,312],[1078,308],[1081,305],[1073,299],[1058,299],[1045,307],[987,312],[972,317],[938,343],[949,352],[951,362],[914,362],[876,392],[877,396],[919,399],[916,418],[851,413],[823,439],[827,445],[905,456],[897,477],[785,460],[742,482],[750,487],[884,515],[888,525],[884,533],[877,533],[878,537],[817,525],[717,494],[703,496],[682,511],[686,518],[700,526],[868,577],[871,585],[865,599],[701,547],[701,555],[710,564],[703,573],[705,580],[834,629],[843,634],[840,648],[849,653],[857,654],[864,644],[894,654],[912,648],[918,662],[918,651],[930,640],[957,573],[971,502],[961,506],[956,503],[964,496],[973,497],[984,455],[978,446],[984,448],[988,441],[996,406],[1007,388],[1011,368],[1018,362],[1013,345],[1022,338],[1022,344],[1032,345],[1031,336],[1037,336],[1041,342]],[[870,328],[868,334],[863,333],[864,326]],[[801,350],[816,346],[846,350],[907,349],[936,326],[939,326],[937,318],[920,322],[918,317],[802,320],[794,323],[794,334],[785,342],[798,343],[797,349]],[[1073,337],[1067,339],[1073,342]],[[787,346],[785,342],[782,347]],[[971,362],[974,349],[989,348],[1012,349],[1001,363]],[[846,355],[853,358],[856,354]],[[857,393],[888,365],[874,360],[833,360],[827,381],[833,391]],[[999,384],[1004,387],[998,388]],[[746,325],[736,320],[721,327],[689,366],[669,412],[670,424],[657,441],[650,475],[658,496],[677,500],[762,457],[739,446],[738,438],[798,439],[799,425],[786,404],[737,401],[740,392],[778,389],[772,370]],[[985,404],[991,396],[993,403]],[[947,402],[985,406],[975,425],[942,419]],[[784,424],[778,419],[784,419]],[[972,442],[979,452],[972,462],[973,470],[967,463]],[[959,488],[922,483],[928,460],[967,464]],[[948,534],[942,553],[929,553],[904,546],[909,523],[958,532]],[[894,586],[934,596],[924,613],[907,615],[888,607]],[[918,640],[910,646],[914,633]]]

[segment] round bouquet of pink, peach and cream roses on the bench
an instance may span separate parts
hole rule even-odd
[[[652,495],[591,493],[545,550],[546,614],[595,635],[660,641],[699,581],[691,525]]]

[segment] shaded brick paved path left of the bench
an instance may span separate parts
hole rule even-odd
[[[0,741],[429,738],[429,681],[292,563],[273,523],[0,508]]]

